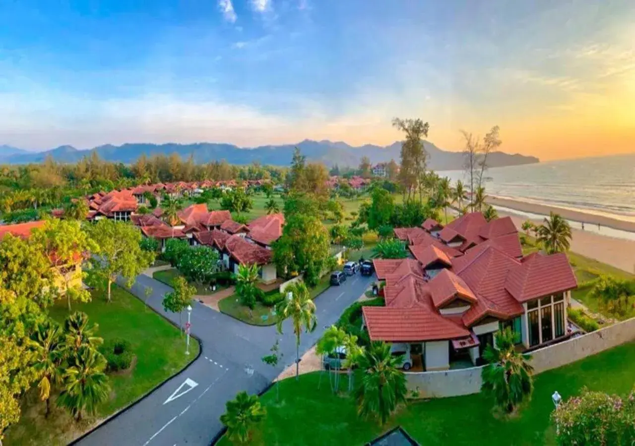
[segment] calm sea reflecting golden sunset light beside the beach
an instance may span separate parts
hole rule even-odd
[[[453,183],[462,171],[439,171]],[[635,221],[635,154],[493,167],[487,195]]]

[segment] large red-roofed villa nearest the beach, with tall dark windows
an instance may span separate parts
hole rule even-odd
[[[511,218],[469,213],[445,227],[396,228],[413,258],[375,259],[385,306],[364,306],[372,341],[393,344],[424,371],[481,364],[498,329],[531,350],[570,336],[566,309],[577,287],[565,254],[523,257]],[[436,232],[436,236],[434,235]]]

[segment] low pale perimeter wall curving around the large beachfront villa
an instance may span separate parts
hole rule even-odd
[[[531,365],[537,374],[634,340],[635,318],[631,318],[584,336],[533,351]],[[458,397],[479,393],[482,368],[408,372],[408,390],[417,390],[422,398]]]

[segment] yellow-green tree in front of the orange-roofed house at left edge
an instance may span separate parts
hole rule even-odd
[[[43,228],[37,228],[31,235],[33,242],[43,247],[51,263],[56,268],[58,277],[64,283],[62,292],[65,294],[69,312],[70,301],[87,302],[90,292],[81,285],[81,269],[78,267],[81,259],[87,253],[97,253],[99,247],[88,237],[77,220],[46,221]]]

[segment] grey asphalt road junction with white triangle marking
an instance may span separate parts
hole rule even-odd
[[[315,299],[318,328],[312,333],[302,333],[300,356],[372,281],[373,277],[358,273]],[[171,288],[140,275],[131,292],[144,299],[145,286],[153,289],[147,304],[178,324],[178,314],[166,313],[161,306],[163,295]],[[247,325],[197,302],[192,307],[191,332],[202,341],[201,356],[184,372],[162,384],[131,409],[102,424],[79,444],[209,445],[222,429],[220,416],[225,412],[227,400],[233,399],[241,390],[260,393],[284,368],[295,362],[295,336],[289,321],[284,322],[280,335],[275,326]],[[186,318],[184,315],[184,323]],[[276,339],[280,339],[284,356],[282,364],[274,369],[262,363],[261,358],[270,353]]]

